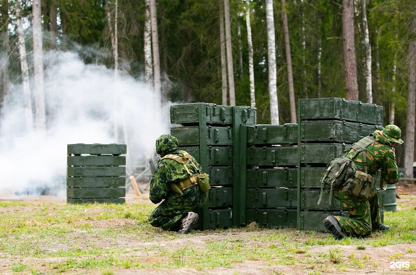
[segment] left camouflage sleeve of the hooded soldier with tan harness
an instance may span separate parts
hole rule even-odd
[[[169,192],[166,167],[162,163],[163,162],[158,163],[150,181],[149,199],[154,204],[161,202]]]

